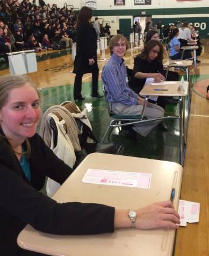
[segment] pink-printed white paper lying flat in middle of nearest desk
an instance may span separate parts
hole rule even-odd
[[[151,179],[152,174],[149,173],[88,169],[82,178],[82,182],[122,187],[150,188]]]

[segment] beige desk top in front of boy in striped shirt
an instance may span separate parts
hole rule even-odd
[[[185,89],[181,89],[180,85],[181,82],[173,82],[173,84],[169,84],[170,81],[168,81],[168,84],[164,83],[162,85],[152,85],[152,84],[146,84],[146,86],[143,87],[142,91],[140,91],[140,95],[146,96],[186,96],[188,94],[188,82],[185,83]]]

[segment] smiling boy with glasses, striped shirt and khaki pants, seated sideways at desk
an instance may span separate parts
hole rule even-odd
[[[102,70],[102,81],[107,92],[107,101],[111,103],[113,113],[122,116],[136,116],[142,113],[144,99],[128,87],[127,71],[123,60],[127,48],[126,37],[121,34],[112,37],[110,40],[111,58]],[[156,50],[159,52],[159,49]],[[160,80],[163,79],[160,74],[156,76],[156,78],[158,77]],[[163,117],[164,110],[159,105],[149,103],[145,108],[144,116],[147,119]],[[133,133],[134,130],[145,137],[160,122],[161,120],[134,124],[130,132]]]

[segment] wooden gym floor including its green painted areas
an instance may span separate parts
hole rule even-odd
[[[176,236],[175,256],[209,255],[209,100],[205,98],[206,87],[209,85],[209,39],[202,40],[203,53],[198,59],[201,63],[197,69],[191,69],[192,102],[189,113],[188,139],[185,154],[184,175],[181,199],[200,202],[200,222],[179,228]],[[135,52],[127,52],[126,65],[133,67]],[[106,52],[106,56],[109,56]],[[166,57],[165,57],[166,59]],[[38,72],[29,74],[42,88],[42,109],[50,105],[73,100],[73,81],[75,75],[70,51],[46,51],[37,54]],[[101,74],[105,62],[99,62]],[[8,64],[0,63],[0,75],[9,73]],[[184,75],[184,74],[182,74]],[[99,78],[101,81],[101,78]],[[101,82],[99,93],[102,94]],[[98,140],[104,135],[109,117],[104,99],[91,98],[91,74],[83,76],[82,95],[84,101],[78,102],[79,107],[86,107]],[[209,92],[208,92],[209,97]],[[168,105],[166,114],[178,113],[178,107]],[[179,162],[179,125],[177,120],[166,120],[169,127],[162,132],[158,127],[153,129],[143,141],[133,142],[112,132],[112,142],[122,142],[124,155],[144,158],[163,159]],[[139,167],[140,168],[140,167]],[[169,171],[169,170],[168,170]],[[162,181],[163,183],[163,181]]]

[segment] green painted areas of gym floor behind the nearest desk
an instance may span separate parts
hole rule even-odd
[[[192,79],[192,81],[194,81],[195,77]],[[73,86],[65,85],[46,88],[42,89],[41,94],[41,107],[43,111],[45,111],[51,105],[60,104],[63,101],[73,101]],[[93,132],[98,141],[101,141],[108,123],[110,122],[110,118],[108,116],[104,98],[92,98],[89,96],[90,94],[91,84],[83,83],[82,95],[86,98],[83,101],[78,101],[76,104],[78,104],[81,109],[87,108]],[[101,82],[99,83],[99,94],[102,95]],[[186,114],[188,114],[188,111],[186,111]],[[178,105],[167,105],[166,115],[178,115]],[[162,132],[159,127],[156,127],[146,138],[139,136],[139,141],[137,142],[127,139],[121,134],[118,135],[118,130],[115,129],[111,133],[110,141],[123,143],[123,155],[160,159],[179,163],[179,120],[165,120],[165,123],[168,125],[168,131]],[[105,142],[108,142],[108,139],[106,139]]]

